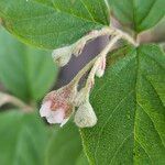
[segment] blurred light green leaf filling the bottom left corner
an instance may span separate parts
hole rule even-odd
[[[0,113],[0,164],[44,165],[51,132],[34,114]]]

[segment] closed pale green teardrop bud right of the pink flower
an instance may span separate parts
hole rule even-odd
[[[96,113],[88,100],[79,106],[74,120],[79,128],[91,128],[97,123]]]

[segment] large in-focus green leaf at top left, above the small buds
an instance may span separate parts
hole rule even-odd
[[[73,44],[108,25],[103,0],[1,0],[2,24],[19,38],[43,48]]]

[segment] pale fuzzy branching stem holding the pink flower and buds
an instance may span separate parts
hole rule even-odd
[[[132,38],[129,34],[117,30],[114,28],[103,28],[100,31],[94,31],[91,33],[89,33],[88,35],[84,36],[82,38],[80,38],[78,42],[80,41],[89,41],[89,40],[94,40],[98,36],[102,36],[102,35],[109,35],[109,36],[113,36],[112,40],[109,42],[109,44],[103,48],[103,51],[97,55],[92,61],[90,61],[76,76],[75,78],[68,84],[68,86],[74,85],[75,87],[77,87],[77,84],[79,82],[80,78],[91,68],[90,74],[88,76],[87,82],[86,82],[86,87],[89,86],[89,84],[91,82],[91,80],[95,78],[95,74],[96,74],[96,69],[98,67],[98,61],[100,57],[107,56],[107,54],[111,51],[111,48],[113,47],[113,45],[120,40],[127,40],[129,43],[131,43],[134,46],[138,46],[139,43],[136,43],[136,41],[134,41],[134,38]],[[88,89],[89,90],[89,89]]]

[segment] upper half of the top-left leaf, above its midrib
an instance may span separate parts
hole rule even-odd
[[[109,11],[103,0],[33,0],[57,8],[62,12],[107,25]]]

